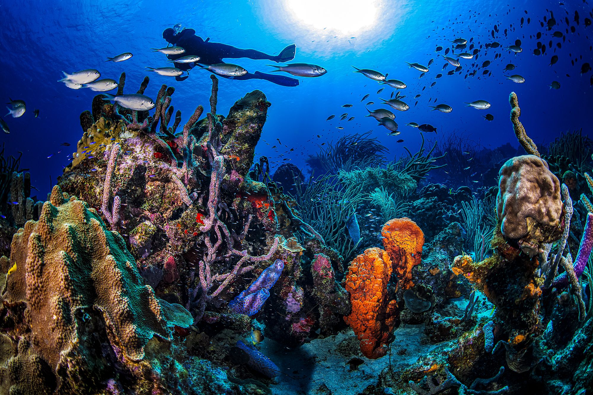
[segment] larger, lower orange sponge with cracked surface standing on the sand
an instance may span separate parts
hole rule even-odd
[[[346,274],[345,288],[350,292],[352,313],[344,320],[358,336],[366,358],[377,359],[387,353],[397,307],[397,302],[390,301],[387,294],[392,271],[387,252],[375,247],[357,256]]]

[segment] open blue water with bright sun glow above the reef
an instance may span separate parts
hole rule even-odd
[[[582,21],[590,8],[581,1],[507,4],[466,0],[144,0],[49,1],[43,5],[31,1],[4,2],[0,5],[3,15],[0,45],[4,52],[0,73],[2,100],[6,102],[9,97],[24,100],[27,111],[16,119],[3,117],[11,133],[3,133],[2,142],[10,154],[23,152],[22,167],[30,168],[32,183],[44,196],[49,191],[49,177],[55,181],[68,164],[72,148],[82,133],[79,113],[90,109],[96,94],[87,89],[71,90],[57,81],[62,78],[62,71],[87,68],[98,69],[101,78],[116,80],[121,72],[126,72],[126,87],[131,87],[126,89],[128,93],[136,89],[145,75],[151,78],[146,94],[153,98],[161,84],[174,86],[174,105],[183,113],[182,122],[186,122],[197,104],[208,103],[209,72],[194,69],[186,81],[178,82],[172,77],[149,73],[145,68],[167,65],[165,56],[151,52],[150,48],[166,46],[162,31],[175,24],[194,28],[212,42],[272,54],[294,43],[297,46],[294,62],[315,63],[327,69],[327,74],[318,78],[298,78],[298,87],[221,78],[219,113],[226,114],[235,100],[254,89],[262,90],[272,103],[256,158],[267,155],[276,165],[288,158],[303,167],[304,158],[317,152],[323,142],[368,130],[390,149],[388,157],[399,157],[404,153],[404,145],[416,151],[420,144],[419,132],[405,126],[407,122],[431,123],[438,129],[438,136],[467,133],[488,148],[506,142],[516,146],[508,120],[511,91],[518,94],[521,119],[531,137],[536,142],[549,142],[566,130],[584,128],[586,133],[592,122],[591,72],[580,75],[582,63],[593,63],[593,27],[584,26]],[[573,24],[575,10],[582,15],[581,24],[575,33],[570,33],[564,20],[568,17]],[[544,16],[549,17],[550,11],[554,12],[557,25],[547,30],[540,26],[540,21]],[[524,18],[522,26],[521,18]],[[498,33],[493,37],[495,25]],[[565,39],[552,37],[556,30],[564,33]],[[532,52],[538,32],[543,34],[539,41],[549,47],[551,40],[553,47],[544,55],[535,56]],[[463,71],[447,75],[452,68],[449,65],[441,71],[445,60],[435,53],[435,47],[447,46],[457,37],[473,39],[479,57],[461,59]],[[483,46],[495,40],[509,46],[517,39],[523,48],[517,55],[500,47]],[[557,42],[562,48],[556,46]],[[132,52],[133,58],[119,63],[104,62],[107,56],[122,52]],[[495,54],[500,54],[500,58],[495,59]],[[550,66],[553,55],[559,60]],[[435,60],[422,78],[419,71],[406,65],[406,62],[426,65],[430,59]],[[484,60],[492,63],[486,68],[471,66],[474,62],[481,65]],[[250,72],[273,70],[266,66],[270,63],[266,60],[233,61]],[[517,68],[507,74],[503,71],[507,63],[514,63]],[[380,88],[377,82],[353,73],[351,65],[389,73],[390,78],[406,82],[407,88],[401,94],[407,95],[404,101],[410,110],[396,112],[400,136],[387,136],[384,127],[364,117],[364,103],[374,101],[369,109],[379,108],[379,98],[388,97],[391,90],[386,88],[382,94],[376,94]],[[484,69],[491,74],[482,75]],[[477,70],[475,76],[464,78],[473,70]],[[443,77],[435,79],[441,72]],[[505,74],[522,75],[525,83],[509,81]],[[552,81],[560,82],[559,90],[549,88]],[[436,84],[430,87],[433,82]],[[369,97],[361,103],[365,94]],[[416,99],[416,94],[421,96]],[[451,106],[452,112],[431,111],[429,100],[435,99],[437,104]],[[463,104],[474,100],[487,100],[492,107],[476,110]],[[343,108],[343,104],[353,107]],[[39,109],[37,119],[33,116],[34,109]],[[340,122],[342,113],[355,119]],[[493,114],[492,122],[484,119],[486,113]],[[326,122],[331,114],[336,114],[336,118]],[[428,137],[437,136],[431,133]],[[404,142],[397,143],[398,139]],[[63,142],[72,146],[60,146]],[[277,148],[272,148],[274,145]],[[285,153],[290,148],[294,151]],[[285,156],[279,157],[280,154]]]

